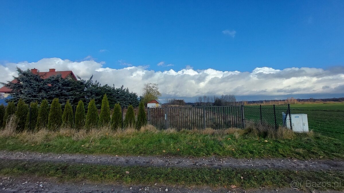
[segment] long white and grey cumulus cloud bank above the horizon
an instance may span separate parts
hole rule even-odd
[[[164,96],[193,98],[200,95],[235,94],[237,96],[278,96],[295,94],[344,93],[344,67],[255,68],[251,72],[218,71],[215,69],[194,70],[190,67],[175,71],[154,71],[144,66],[129,66],[121,69],[103,67],[104,63],[94,60],[71,61],[60,58],[44,58],[37,62],[5,63],[0,65],[0,81],[12,80],[17,75],[15,67],[37,68],[40,71],[73,70],[75,75],[94,79],[102,84],[122,84],[137,92],[144,83],[159,84]]]

